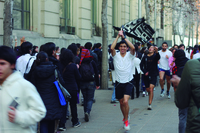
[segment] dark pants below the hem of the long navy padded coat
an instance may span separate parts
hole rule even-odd
[[[40,121],[40,133],[54,133],[55,120]]]

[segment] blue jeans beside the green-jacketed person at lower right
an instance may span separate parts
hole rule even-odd
[[[179,133],[185,133],[186,122],[187,122],[187,112],[188,112],[188,108],[178,109],[178,116],[179,116],[178,130],[179,130]]]

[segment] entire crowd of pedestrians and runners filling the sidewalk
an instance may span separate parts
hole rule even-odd
[[[170,99],[170,87],[174,88],[179,133],[199,132],[200,46],[186,50],[184,44],[169,48],[167,42],[159,48],[149,43],[141,46],[133,45],[119,31],[108,47],[108,72],[114,85],[110,103],[120,104],[124,129],[130,130],[128,100],[142,93],[149,96],[147,110],[152,110],[153,92],[159,83],[160,97],[166,93]],[[23,37],[14,49],[0,46],[0,132],[65,131],[69,118],[74,128],[79,127],[79,102],[84,120],[89,122],[101,70],[101,43],[60,48],[47,42],[38,47]]]

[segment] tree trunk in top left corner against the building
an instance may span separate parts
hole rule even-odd
[[[13,0],[5,0],[3,20],[3,45],[12,47],[12,6]]]

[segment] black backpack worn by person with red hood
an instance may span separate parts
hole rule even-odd
[[[88,63],[81,63],[79,71],[82,76],[82,81],[94,81],[95,73],[92,61]]]

